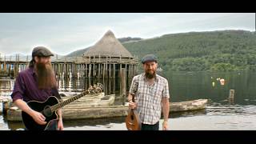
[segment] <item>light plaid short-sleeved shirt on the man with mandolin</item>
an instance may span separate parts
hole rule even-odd
[[[149,86],[145,73],[136,75],[130,86],[130,93],[134,82],[138,82],[138,90],[135,93],[135,102],[138,102],[138,114],[142,123],[154,125],[161,118],[162,98],[170,98],[168,81],[156,74],[154,84]]]

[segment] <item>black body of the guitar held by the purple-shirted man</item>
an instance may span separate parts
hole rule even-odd
[[[46,130],[47,126],[50,126],[51,122],[57,120],[58,115],[56,111],[52,112],[50,106],[58,104],[58,99],[54,96],[47,98],[45,102],[30,101],[27,105],[30,106],[32,110],[41,112],[46,117],[46,125],[39,125],[34,119],[26,112],[22,111],[22,121],[26,126],[27,130]]]

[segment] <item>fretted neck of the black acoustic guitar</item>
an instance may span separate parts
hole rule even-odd
[[[67,99],[66,101],[60,102],[54,106],[51,106],[51,110],[54,112],[60,108],[62,108],[63,106],[66,106],[67,104],[69,104],[70,102],[74,102],[75,100],[77,100],[78,98],[82,98],[83,96],[85,96],[86,94],[89,94],[89,90],[86,90],[85,92],[83,92],[82,94],[78,94],[72,98]]]

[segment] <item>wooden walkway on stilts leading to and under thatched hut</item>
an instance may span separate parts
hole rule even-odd
[[[0,78],[16,78],[18,72],[25,70],[31,57],[0,57]],[[89,78],[88,86],[92,79],[107,79],[109,82],[105,90],[125,90],[123,86],[129,87],[134,75],[137,74],[138,60],[134,58],[89,56],[76,58],[51,58],[53,70],[57,78],[66,81],[74,78]],[[121,83],[121,78],[124,79]],[[110,80],[111,79],[111,80]],[[106,86],[106,85],[105,85]],[[116,87],[118,86],[118,87]]]

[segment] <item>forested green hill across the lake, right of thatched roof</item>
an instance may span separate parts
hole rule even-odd
[[[166,71],[256,70],[256,34],[245,30],[166,34],[123,46],[138,58],[157,55]]]

